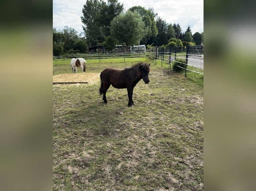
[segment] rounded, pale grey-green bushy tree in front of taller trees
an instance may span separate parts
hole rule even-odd
[[[110,34],[120,43],[128,47],[137,44],[144,37],[144,22],[137,11],[127,11],[113,19],[110,24]]]

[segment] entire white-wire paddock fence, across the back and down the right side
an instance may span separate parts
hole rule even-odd
[[[122,58],[125,62],[126,58],[143,58],[147,57],[155,61],[161,60],[161,66],[163,64],[169,65],[169,69],[171,66],[176,63],[180,63],[183,65],[178,66],[186,72],[195,72],[198,74],[204,75],[204,49],[203,46],[186,46],[186,47],[153,47],[147,51],[140,52],[130,52],[127,53],[123,51],[122,53],[105,53],[105,54],[76,54],[76,55],[66,55],[66,56],[53,56],[53,60],[64,61],[72,58],[84,58],[85,60],[101,60],[103,59],[116,59]],[[185,60],[185,63],[179,62],[178,59]]]

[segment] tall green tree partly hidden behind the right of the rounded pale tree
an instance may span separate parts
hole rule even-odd
[[[132,11],[133,13],[137,11],[140,14],[142,21],[145,24],[145,39],[143,40],[145,44],[147,43],[147,40],[149,40],[151,37],[156,37],[158,31],[156,28],[156,22],[154,20],[154,15],[150,10],[147,10],[141,6],[134,6],[129,8],[128,10]]]

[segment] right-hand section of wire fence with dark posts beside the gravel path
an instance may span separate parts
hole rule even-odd
[[[154,47],[150,49],[149,58],[153,62],[161,60],[162,64],[168,64],[169,69],[174,63],[180,63],[183,67],[178,66],[186,72],[191,71],[204,75],[204,47],[203,46],[186,46],[186,47]],[[185,63],[179,62],[177,59],[184,59]],[[188,67],[189,66],[189,67]]]

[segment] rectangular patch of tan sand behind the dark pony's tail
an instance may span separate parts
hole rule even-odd
[[[52,77],[53,84],[93,84],[100,80],[100,73],[59,74]]]

